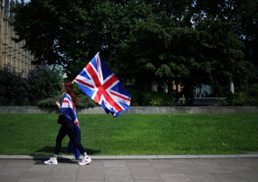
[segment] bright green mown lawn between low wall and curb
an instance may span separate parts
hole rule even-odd
[[[0,155],[52,155],[57,114],[0,114]],[[258,152],[258,114],[79,114],[89,155]],[[66,155],[69,138],[60,155]]]

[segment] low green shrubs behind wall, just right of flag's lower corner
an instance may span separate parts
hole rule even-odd
[[[127,89],[131,94],[130,106],[175,106],[174,97],[164,93]]]

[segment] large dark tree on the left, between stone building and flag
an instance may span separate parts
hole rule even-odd
[[[34,64],[59,64],[74,79],[97,52],[109,60],[136,22],[148,14],[142,1],[46,0],[16,2],[12,25]]]

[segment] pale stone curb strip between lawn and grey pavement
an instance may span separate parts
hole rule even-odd
[[[0,155],[1,159],[31,159],[43,160],[52,156],[39,155]],[[123,156],[90,156],[94,160],[114,159],[198,159],[198,158],[258,158],[258,154],[228,154],[228,155],[123,155]],[[82,158],[82,156],[81,156]],[[59,160],[76,160],[74,156],[59,156]]]

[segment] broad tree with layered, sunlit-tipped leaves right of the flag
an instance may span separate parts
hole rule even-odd
[[[141,85],[158,79],[171,88],[174,80],[177,87],[184,87],[181,93],[174,90],[176,101],[201,84],[243,82],[253,66],[244,60],[244,45],[235,27],[233,22],[213,18],[200,20],[195,27],[181,27],[167,13],[149,15],[118,46],[120,69]]]

